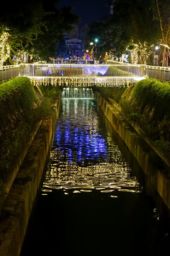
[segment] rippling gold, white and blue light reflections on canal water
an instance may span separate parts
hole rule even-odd
[[[94,100],[63,99],[42,194],[52,189],[74,193],[137,193],[139,183],[111,134],[103,129]]]

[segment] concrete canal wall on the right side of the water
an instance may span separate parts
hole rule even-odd
[[[156,200],[162,198],[163,204],[170,212],[170,174],[169,166],[157,155],[151,146],[142,139],[140,134],[125,121],[120,113],[120,106],[96,93],[98,106],[105,114],[113,129],[119,134],[128,149],[137,159],[138,164],[145,174],[145,186],[147,193]]]

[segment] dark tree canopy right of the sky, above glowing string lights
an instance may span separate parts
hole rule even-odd
[[[167,15],[163,11],[166,9],[166,1],[159,1],[164,23],[167,23]],[[145,62],[161,38],[156,0],[114,0],[110,1],[110,5],[113,14],[91,24],[89,38],[100,38],[103,53],[110,48],[120,57],[127,51],[134,51],[140,55],[137,62]]]

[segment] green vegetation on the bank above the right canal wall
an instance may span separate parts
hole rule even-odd
[[[103,97],[118,102],[129,122],[143,129],[166,157],[170,153],[170,85],[145,79],[135,87],[98,88]]]

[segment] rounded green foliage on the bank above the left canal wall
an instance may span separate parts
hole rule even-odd
[[[28,78],[14,78],[0,85],[0,176],[11,169],[29,140],[38,100]]]

